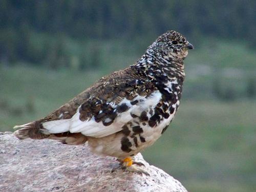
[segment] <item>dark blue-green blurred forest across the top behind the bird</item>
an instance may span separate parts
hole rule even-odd
[[[104,40],[136,39],[130,45],[133,49],[127,50],[137,53],[157,35],[170,29],[183,33],[196,48],[208,44],[211,37],[218,37],[232,40],[232,43],[234,40],[242,41],[255,49],[255,9],[256,2],[249,0],[2,0],[0,60],[9,63],[22,60],[51,68],[88,69],[95,66],[95,58],[91,56],[100,54],[103,48],[108,49],[101,47]],[[223,54],[233,56],[243,49],[233,43],[233,52],[230,52],[219,42],[214,39],[210,48],[221,46],[220,53],[215,54],[208,49],[212,63],[219,57],[224,58]],[[127,46],[120,42],[118,45]],[[234,58],[233,65],[240,66],[240,60]],[[247,60],[251,61],[250,58]],[[245,65],[251,65],[246,61]],[[226,62],[225,59],[222,62]]]

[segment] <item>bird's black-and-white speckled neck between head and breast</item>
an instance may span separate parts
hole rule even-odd
[[[183,61],[183,58],[175,58],[173,55],[148,48],[134,67],[148,78],[161,79],[165,76],[168,79],[176,78],[183,81],[185,78]]]

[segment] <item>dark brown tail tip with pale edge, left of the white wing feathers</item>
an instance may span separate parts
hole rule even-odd
[[[14,132],[14,135],[19,139],[45,139],[50,136],[49,134],[41,132],[42,123],[40,120],[23,125],[16,125],[13,129],[19,129]]]

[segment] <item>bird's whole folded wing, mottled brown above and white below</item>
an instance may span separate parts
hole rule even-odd
[[[159,99],[160,94],[151,82],[113,78],[99,83],[71,119],[49,121],[43,126],[49,133],[69,131],[104,137],[121,131],[133,114],[147,105],[155,105]]]

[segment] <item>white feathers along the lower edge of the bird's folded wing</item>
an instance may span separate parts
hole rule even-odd
[[[62,133],[70,131],[71,133],[82,133],[85,136],[90,137],[105,137],[122,130],[122,126],[133,119],[131,113],[140,114],[143,110],[152,106],[153,108],[161,99],[161,93],[159,91],[153,93],[150,97],[137,96],[139,102],[136,105],[131,105],[130,101],[123,99],[119,104],[125,103],[129,106],[129,110],[120,113],[114,122],[109,126],[105,126],[102,122],[96,122],[94,117],[87,121],[81,121],[79,116],[79,108],[76,114],[71,119],[55,120],[43,123],[45,129],[49,133]]]

